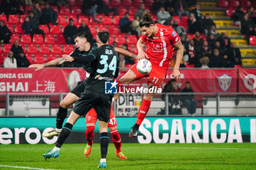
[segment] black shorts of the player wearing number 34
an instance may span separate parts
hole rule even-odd
[[[101,93],[83,93],[75,103],[73,111],[81,116],[86,116],[91,108],[97,112],[97,119],[109,122],[110,107],[113,96]]]

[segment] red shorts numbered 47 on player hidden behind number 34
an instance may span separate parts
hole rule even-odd
[[[97,113],[94,109],[90,109],[90,111],[86,114],[86,124],[87,123],[96,123],[97,122]],[[113,111],[113,106],[110,108],[110,121],[108,122],[108,127],[116,126],[116,115]]]

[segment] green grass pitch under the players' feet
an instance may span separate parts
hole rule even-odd
[[[53,144],[0,145],[0,165],[29,166],[40,169],[97,169],[99,144],[94,144],[89,158],[86,144],[64,144],[59,158],[45,161],[42,154]],[[256,144],[122,144],[128,160],[116,157],[109,144],[108,169],[256,169]],[[1,167],[0,169],[12,169]]]

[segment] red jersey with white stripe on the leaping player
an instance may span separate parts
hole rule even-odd
[[[141,40],[143,42],[148,41],[146,54],[149,61],[154,66],[161,66],[167,69],[175,53],[174,45],[180,41],[180,37],[173,28],[160,24],[156,24],[156,26],[159,28],[156,35],[148,38],[143,34]]]

